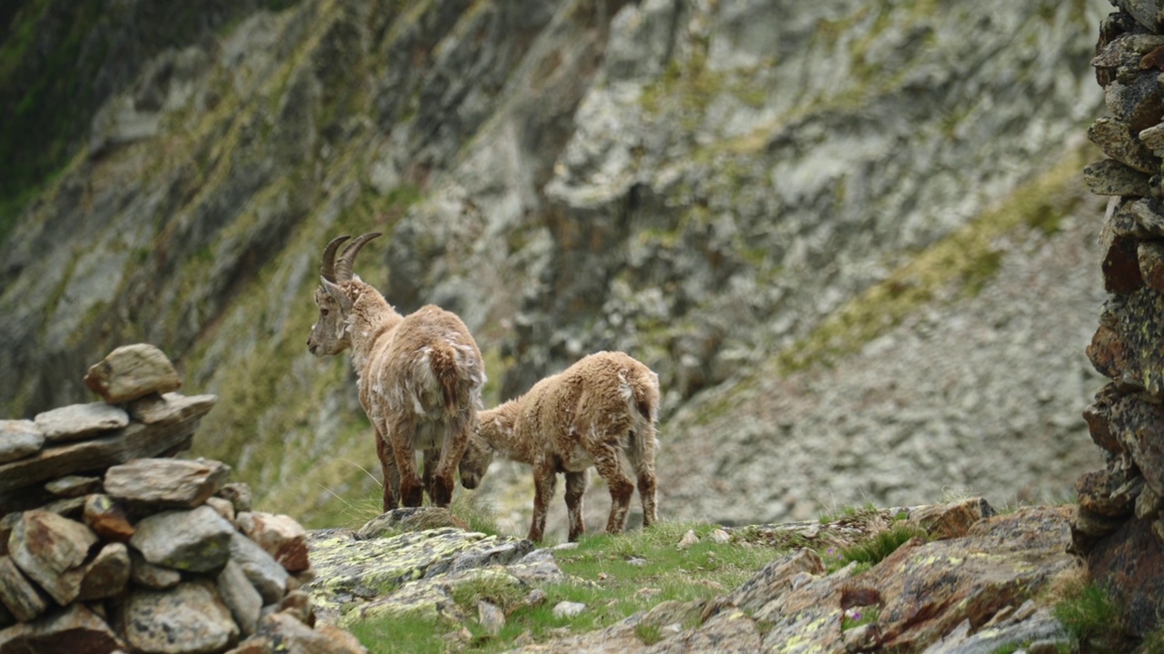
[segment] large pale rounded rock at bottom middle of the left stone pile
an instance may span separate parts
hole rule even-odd
[[[221,652],[239,638],[213,585],[187,582],[165,591],[135,590],[119,612],[119,633],[136,652]]]

